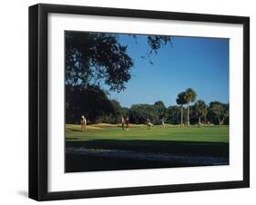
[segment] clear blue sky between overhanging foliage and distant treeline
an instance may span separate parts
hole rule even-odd
[[[110,98],[130,107],[134,103],[163,101],[175,105],[177,94],[192,88],[197,99],[229,102],[229,39],[174,36],[172,46],[164,45],[158,54],[142,59],[148,49],[145,35],[137,40],[118,34],[120,44],[128,45],[134,67],[126,89],[110,93]]]

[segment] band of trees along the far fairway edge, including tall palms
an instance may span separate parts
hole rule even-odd
[[[157,101],[154,104],[133,104],[127,108],[110,100],[108,93],[97,85],[86,88],[66,86],[66,122],[79,123],[81,115],[84,115],[88,123],[120,123],[124,116],[136,124],[145,123],[147,119],[154,124],[160,124],[162,119],[171,124],[229,124],[229,103],[196,101],[196,93],[192,89],[179,93],[176,101],[178,105],[169,107]],[[194,103],[189,105],[189,102]]]

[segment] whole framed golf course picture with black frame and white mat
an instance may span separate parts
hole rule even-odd
[[[250,19],[29,7],[29,197],[250,186]]]

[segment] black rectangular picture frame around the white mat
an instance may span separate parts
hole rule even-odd
[[[47,190],[47,15],[107,15],[243,25],[243,180],[155,185],[101,190]],[[220,190],[250,186],[250,18],[201,15],[76,5],[32,5],[29,7],[29,198],[67,200],[191,190]]]

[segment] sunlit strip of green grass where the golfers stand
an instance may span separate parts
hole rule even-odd
[[[147,130],[146,125],[132,125],[129,131],[112,124],[87,126],[86,132],[80,132],[80,125],[66,125],[66,140],[143,140],[143,141],[179,141],[179,142],[229,142],[229,126],[189,126],[166,125],[165,129],[156,125]]]

